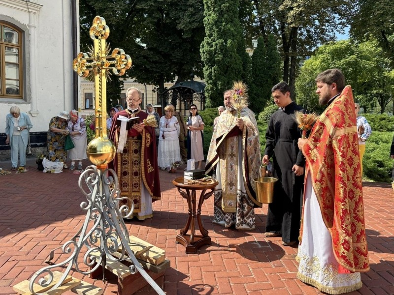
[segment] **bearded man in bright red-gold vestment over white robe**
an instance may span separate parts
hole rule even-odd
[[[354,100],[338,69],[316,78],[319,103],[328,105],[308,139],[297,261],[298,278],[328,294],[361,288],[369,270]]]

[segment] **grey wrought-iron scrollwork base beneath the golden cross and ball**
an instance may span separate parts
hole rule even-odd
[[[81,174],[78,186],[87,199],[87,202],[84,201],[80,205],[83,210],[87,211],[84,224],[74,238],[63,245],[63,253],[70,254],[65,261],[43,267],[34,273],[29,283],[30,291],[34,295],[57,289],[62,285],[72,267],[79,273],[88,275],[99,266],[104,269],[107,260],[122,261],[126,258],[132,262],[129,266],[131,274],[139,271],[159,295],[165,295],[164,291],[140,266],[129,246],[129,234],[123,218],[131,216],[134,208],[132,206],[130,211],[126,205],[119,208],[119,201],[124,198],[116,198],[119,193],[118,184],[118,177],[112,169],[98,169],[92,165]],[[120,252],[119,258],[113,255],[116,252]],[[86,271],[79,267],[78,259],[82,254],[83,265],[88,269]],[[49,288],[54,279],[52,269],[56,267],[66,268],[66,270],[61,279]],[[45,279],[44,276],[49,278]],[[37,286],[34,283],[40,286],[42,293],[33,290],[34,286]],[[45,287],[48,288],[42,289]]]

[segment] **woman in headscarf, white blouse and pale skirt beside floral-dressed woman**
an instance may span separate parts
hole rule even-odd
[[[67,130],[70,132],[74,148],[68,150],[68,156],[71,159],[70,170],[75,169],[75,161],[78,161],[78,170],[82,170],[82,160],[88,156],[86,148],[88,146],[86,135],[86,123],[81,117],[78,117],[78,112],[70,111],[70,120],[68,121]]]

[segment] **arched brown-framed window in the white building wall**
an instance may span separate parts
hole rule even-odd
[[[0,97],[23,98],[22,32],[0,22]]]

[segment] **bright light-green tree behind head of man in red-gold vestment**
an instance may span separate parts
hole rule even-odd
[[[319,47],[301,67],[296,81],[297,98],[310,111],[325,108],[318,105],[315,78],[328,68],[342,70],[346,84],[352,86],[355,100],[365,111],[378,104],[383,113],[393,99],[394,72],[376,41],[357,45],[342,40]]]

